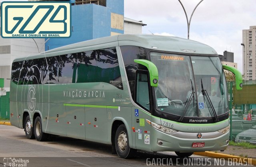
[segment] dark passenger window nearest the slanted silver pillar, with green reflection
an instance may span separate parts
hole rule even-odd
[[[123,89],[116,48],[96,51],[98,54],[96,82],[106,82]]]

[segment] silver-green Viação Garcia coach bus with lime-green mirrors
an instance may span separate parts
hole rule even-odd
[[[112,145],[119,157],[137,149],[225,150],[229,110],[216,51],[199,42],[118,35],[17,58],[10,84],[11,124],[28,139],[49,134]]]

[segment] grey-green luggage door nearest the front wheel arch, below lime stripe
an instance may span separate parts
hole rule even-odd
[[[86,140],[108,143],[106,106],[85,107]]]

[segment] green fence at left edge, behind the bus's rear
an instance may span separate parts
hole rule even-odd
[[[10,92],[0,97],[0,118],[10,119]]]

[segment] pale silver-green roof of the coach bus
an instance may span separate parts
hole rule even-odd
[[[52,50],[48,50],[46,52],[42,52],[39,55],[54,53],[64,50],[72,50],[76,48],[90,47],[95,45],[102,45],[112,43],[113,46],[140,46],[143,48],[149,48],[152,50],[158,51],[168,51],[168,52],[180,52],[180,53],[190,53],[190,54],[210,54],[212,56],[217,56],[216,51],[200,42],[196,42],[193,40],[188,40],[179,37],[173,36],[160,36],[160,35],[148,35],[148,34],[140,34],[140,35],[132,35],[132,34],[120,34],[116,36],[109,36],[104,38],[97,38],[93,40],[88,40],[84,42],[78,42],[75,44],[70,44],[67,46],[62,46],[59,48],[55,48]],[[37,54],[38,55],[38,54]],[[26,59],[30,59],[30,57],[36,58],[36,55],[28,56]],[[40,56],[42,57],[42,56]],[[18,58],[14,60],[24,60],[24,58]]]

